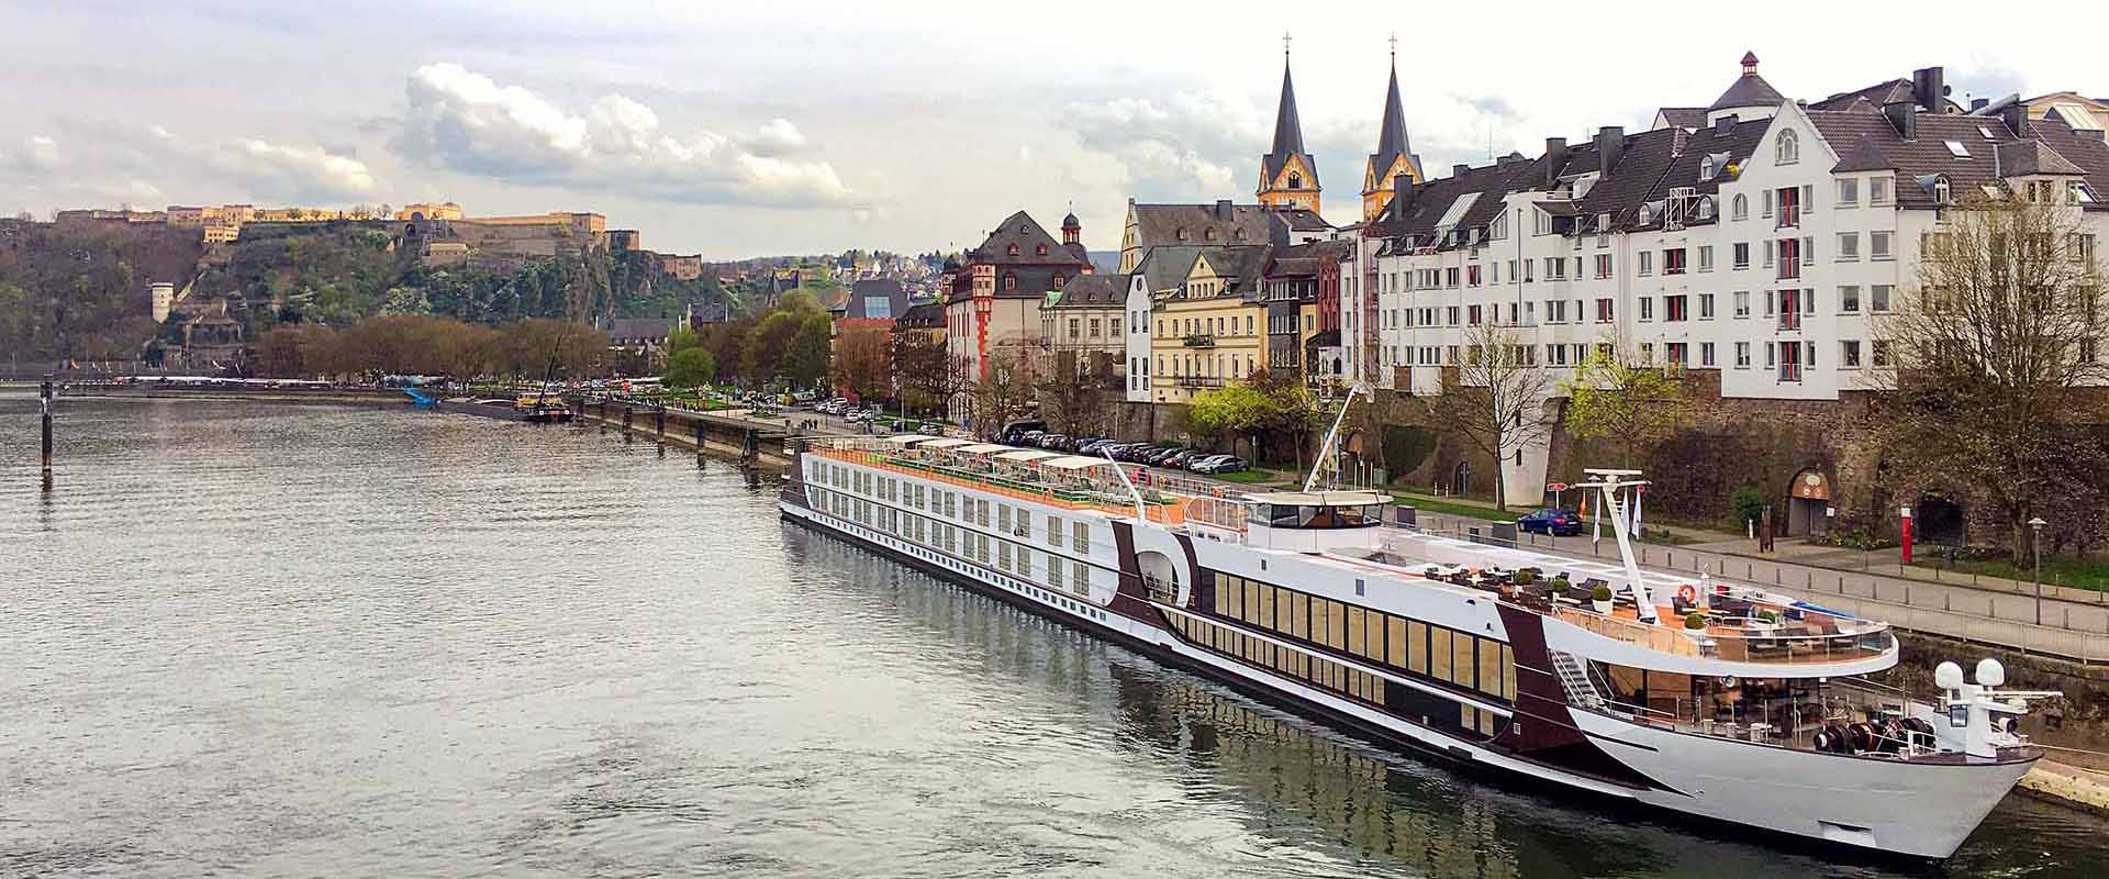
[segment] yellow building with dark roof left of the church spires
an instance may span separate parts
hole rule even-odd
[[[1156,403],[1189,403],[1261,369],[1268,356],[1259,278],[1268,245],[1202,247],[1177,293],[1149,310]]]

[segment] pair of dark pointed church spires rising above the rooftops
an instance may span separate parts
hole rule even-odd
[[[1396,179],[1421,181],[1419,160],[1407,139],[1407,112],[1398,99],[1398,38],[1392,38],[1392,78],[1384,95],[1377,152],[1362,169],[1362,221],[1375,219],[1392,202]],[[1282,99],[1274,110],[1274,145],[1259,160],[1259,204],[1270,209],[1318,211],[1318,162],[1303,150],[1303,122],[1289,74],[1289,36],[1282,36]]]

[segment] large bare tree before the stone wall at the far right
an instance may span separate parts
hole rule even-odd
[[[1968,196],[1921,238],[1919,276],[1875,323],[1869,382],[1892,462],[1997,506],[2018,565],[2029,519],[2092,495],[2109,453],[2096,352],[2101,263],[2063,185]]]

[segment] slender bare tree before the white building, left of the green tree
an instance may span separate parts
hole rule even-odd
[[[1493,457],[1493,504],[1508,510],[1506,464],[1546,436],[1544,405],[1552,373],[1537,363],[1535,346],[1512,327],[1485,323],[1466,331],[1464,358],[1443,375],[1443,394],[1430,407],[1472,449]]]

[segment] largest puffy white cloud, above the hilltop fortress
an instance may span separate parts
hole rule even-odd
[[[791,120],[679,137],[658,112],[605,95],[584,114],[458,63],[418,67],[392,148],[432,167],[515,183],[616,188],[652,200],[759,207],[852,202],[835,169],[799,158],[812,141]]]

